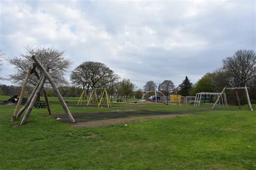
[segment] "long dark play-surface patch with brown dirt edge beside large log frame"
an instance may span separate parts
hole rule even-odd
[[[116,124],[126,124],[134,122],[150,121],[153,119],[165,119],[182,116],[192,116],[184,112],[167,111],[148,111],[148,110],[122,110],[104,112],[85,112],[82,114],[72,114],[77,123],[70,124],[78,128],[93,128]],[[60,118],[58,121],[69,123],[66,114],[52,115],[51,117]]]

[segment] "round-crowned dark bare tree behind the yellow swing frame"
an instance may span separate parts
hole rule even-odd
[[[104,63],[86,61],[72,71],[70,80],[83,89],[93,89],[105,87],[113,81],[113,77],[113,71]]]

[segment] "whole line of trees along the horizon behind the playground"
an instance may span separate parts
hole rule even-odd
[[[233,56],[223,60],[223,66],[211,73],[206,73],[195,84],[192,84],[187,76],[179,86],[174,86],[171,80],[164,80],[158,86],[154,81],[147,81],[143,89],[136,89],[129,79],[121,80],[118,74],[107,67],[104,63],[85,61],[70,72],[70,82],[65,79],[72,61],[64,57],[64,51],[55,48],[26,48],[26,53],[20,57],[8,58],[7,61],[14,65],[15,74],[10,75],[12,83],[21,86],[26,70],[32,64],[31,55],[36,55],[45,68],[49,68],[49,74],[58,85],[62,95],[79,96],[83,90],[87,94],[90,89],[106,88],[111,96],[142,98],[145,91],[158,90],[166,96],[180,94],[182,96],[195,96],[201,91],[219,92],[227,87],[249,87],[250,96],[256,99],[256,55],[252,50],[239,50]],[[39,72],[39,70],[38,70]],[[40,73],[42,75],[42,73]],[[29,79],[29,86],[36,86],[37,78],[32,75]],[[47,83],[46,83],[47,86]],[[14,86],[0,87],[0,94],[11,95]],[[12,90],[10,90],[12,89]],[[51,89],[48,89],[51,96]],[[2,92],[1,92],[2,90]]]

